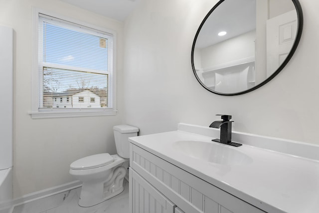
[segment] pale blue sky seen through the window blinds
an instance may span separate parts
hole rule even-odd
[[[43,62],[90,70],[108,71],[108,40],[96,35],[43,22]],[[45,86],[52,92],[69,88],[107,86],[107,75],[48,68],[44,71]]]

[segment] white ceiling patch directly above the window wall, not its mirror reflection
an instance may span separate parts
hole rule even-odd
[[[140,0],[61,0],[66,3],[84,8],[97,14],[107,16],[118,21],[125,18],[138,5]]]

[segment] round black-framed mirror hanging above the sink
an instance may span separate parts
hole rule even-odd
[[[191,63],[198,82],[219,95],[240,95],[274,78],[299,43],[298,0],[220,0],[201,22]]]

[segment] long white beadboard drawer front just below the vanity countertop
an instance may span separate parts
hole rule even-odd
[[[265,213],[134,144],[130,146],[131,167],[185,213]]]

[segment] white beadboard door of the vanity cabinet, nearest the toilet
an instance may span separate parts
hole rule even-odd
[[[130,213],[174,213],[174,208],[173,203],[130,168]]]

